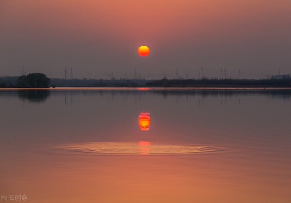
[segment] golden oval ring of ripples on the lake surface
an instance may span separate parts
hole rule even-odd
[[[225,150],[222,147],[167,145],[162,143],[140,144],[141,142],[94,142],[56,147],[75,152],[102,154],[190,154],[214,153]]]

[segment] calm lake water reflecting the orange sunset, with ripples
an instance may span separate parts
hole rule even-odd
[[[0,193],[291,202],[290,91],[0,91]]]

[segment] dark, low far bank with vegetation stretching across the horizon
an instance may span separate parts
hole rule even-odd
[[[40,73],[35,73],[39,74]],[[29,75],[28,75],[29,76]],[[28,76],[26,78],[28,78]],[[0,87],[74,87],[74,88],[272,88],[272,87],[291,87],[291,77],[284,76],[281,79],[166,79],[161,80],[144,80],[144,79],[47,79],[49,84],[42,85],[39,82],[23,82],[24,76],[19,77],[2,77],[0,78]],[[47,77],[45,77],[47,78]]]

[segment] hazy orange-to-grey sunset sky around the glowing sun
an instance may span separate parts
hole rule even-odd
[[[0,76],[291,74],[290,10],[290,0],[0,0]]]

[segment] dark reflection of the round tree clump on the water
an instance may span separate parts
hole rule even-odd
[[[20,99],[27,100],[29,102],[43,102],[50,95],[50,91],[42,90],[19,90],[17,92]]]

